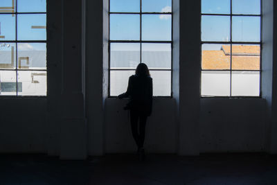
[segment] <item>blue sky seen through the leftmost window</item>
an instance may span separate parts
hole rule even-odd
[[[15,0],[17,12],[46,12],[46,0]],[[0,0],[0,7],[12,7],[12,0]],[[10,14],[0,15],[1,36],[0,41],[15,40],[15,16]],[[45,14],[17,15],[17,39],[18,40],[46,40],[45,28],[31,28],[31,26],[46,26]],[[1,50],[9,50],[7,47]],[[21,50],[46,50],[45,44],[21,44]]]

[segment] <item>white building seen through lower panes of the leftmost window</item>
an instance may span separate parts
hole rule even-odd
[[[13,71],[13,69],[23,69]],[[0,51],[0,96],[46,96],[46,51]]]

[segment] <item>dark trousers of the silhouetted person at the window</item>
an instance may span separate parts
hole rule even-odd
[[[138,146],[138,148],[143,148],[147,117],[148,116],[145,116],[145,114],[140,114],[139,112],[132,110],[130,111],[132,134],[134,137],[134,141],[136,141],[136,146]]]

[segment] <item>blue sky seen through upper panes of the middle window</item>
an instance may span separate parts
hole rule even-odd
[[[171,12],[171,0],[142,0],[142,12]],[[139,0],[110,0],[111,12],[140,12]],[[110,39],[139,40],[139,15],[111,15]],[[171,40],[171,15],[143,15],[142,40]],[[126,46],[131,46],[126,44]],[[124,44],[118,44],[116,50],[124,50]],[[163,47],[157,44],[157,50]],[[129,50],[136,50],[129,49]],[[152,49],[153,50],[153,49]]]

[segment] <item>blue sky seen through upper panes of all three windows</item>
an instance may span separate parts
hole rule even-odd
[[[16,1],[16,0],[15,0]],[[260,0],[233,0],[233,13],[260,14]],[[17,0],[18,12],[45,12],[46,0]],[[143,12],[171,12],[171,0],[142,0]],[[12,6],[12,0],[1,0],[1,7]],[[139,0],[110,0],[111,12],[139,12]],[[230,0],[202,0],[202,13],[230,13]],[[139,40],[139,15],[111,15],[111,39]],[[31,26],[46,26],[46,15],[18,15],[17,38],[46,39],[46,30]],[[15,39],[15,17],[0,15],[1,35]],[[188,26],[189,28],[189,26]],[[0,41],[5,40],[0,38]],[[170,15],[143,15],[142,39],[171,39]],[[202,16],[202,40],[226,41],[230,39],[230,18],[228,16]],[[233,41],[260,41],[259,17],[233,17]],[[42,48],[35,48],[42,49]]]

